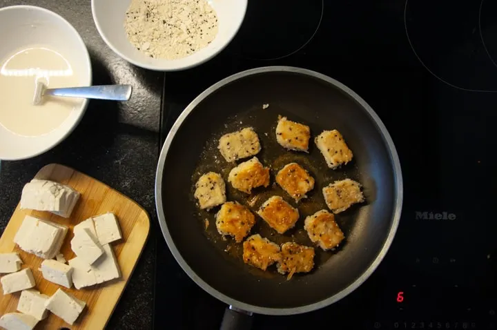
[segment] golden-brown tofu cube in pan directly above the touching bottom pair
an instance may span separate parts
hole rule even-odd
[[[299,218],[297,208],[293,208],[280,196],[270,197],[260,207],[257,214],[271,226],[272,229],[282,234],[293,228]]]

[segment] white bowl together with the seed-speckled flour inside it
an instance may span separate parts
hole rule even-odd
[[[107,45],[136,66],[192,68],[215,57],[235,37],[247,0],[92,0]]]

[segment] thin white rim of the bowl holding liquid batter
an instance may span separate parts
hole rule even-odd
[[[67,26],[67,28],[75,35],[75,37],[77,39],[77,43],[79,43],[81,46],[81,51],[84,51],[84,57],[86,59],[85,66],[87,68],[86,71],[88,72],[88,81],[85,81],[85,83],[88,86],[91,86],[93,75],[92,75],[92,64],[91,64],[91,60],[90,60],[90,53],[88,52],[88,48],[86,47],[86,44],[84,43],[83,38],[81,38],[81,35],[79,35],[79,32],[77,32],[76,28],[74,26],[72,26],[72,24],[69,23],[69,21],[67,19],[62,17],[60,14],[57,14],[57,12],[52,12],[52,10],[48,10],[46,8],[39,7],[39,6],[30,6],[30,5],[7,6],[7,7],[0,8],[0,12],[14,10],[14,9],[37,10],[40,12],[44,12],[52,17],[55,17],[55,19],[58,19],[62,23],[64,23]],[[59,145],[62,141],[64,141],[64,139],[66,139],[66,137],[68,137],[70,135],[70,133],[72,133],[72,131],[75,130],[75,128],[79,125],[79,122],[81,122],[81,119],[83,118],[84,114],[86,113],[86,108],[88,108],[88,102],[89,102],[88,99],[84,99],[81,102],[81,106],[79,107],[80,113],[79,113],[77,119],[75,120],[74,123],[72,123],[72,125],[66,131],[66,133],[64,133],[63,135],[61,135],[61,137],[59,137],[59,139],[56,139],[54,142],[52,142],[50,144],[46,144],[45,146],[43,146],[43,148],[40,148],[39,151],[36,151],[34,153],[28,153],[28,154],[20,156],[20,157],[3,157],[0,155],[0,159],[1,160],[29,159],[29,158],[41,155],[42,153],[46,153],[47,151],[50,151],[52,148],[55,148],[55,146]],[[36,139],[36,137],[32,137],[32,138]]]

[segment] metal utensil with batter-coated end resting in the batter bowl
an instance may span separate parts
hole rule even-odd
[[[130,85],[101,85],[89,87],[46,88],[43,82],[38,81],[35,88],[33,104],[37,106],[45,95],[82,97],[86,99],[109,99],[114,101],[128,101],[133,88]]]

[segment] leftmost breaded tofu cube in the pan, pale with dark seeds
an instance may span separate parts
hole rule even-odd
[[[203,210],[226,202],[226,184],[220,174],[208,172],[202,175],[195,184],[195,198]]]

